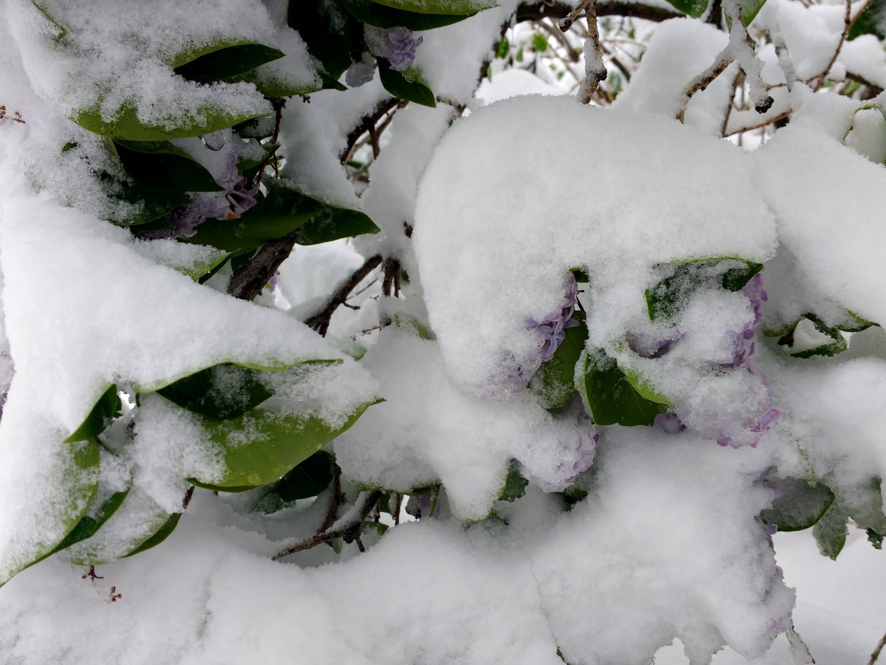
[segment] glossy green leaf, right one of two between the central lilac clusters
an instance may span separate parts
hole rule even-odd
[[[646,399],[631,385],[618,363],[601,349],[588,352],[576,387],[597,425],[651,426],[664,404]]]

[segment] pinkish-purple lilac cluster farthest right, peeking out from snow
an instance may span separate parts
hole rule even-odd
[[[732,341],[733,351],[732,359],[728,363],[718,363],[712,365],[714,368],[724,371],[744,371],[755,374],[751,361],[757,350],[757,345],[753,341],[756,333],[753,326],[756,326],[763,319],[762,306],[769,300],[766,291],[763,289],[763,276],[759,273],[750,279],[747,285],[742,288],[742,293],[747,296],[750,301],[749,307],[754,311],[754,319],[741,331],[727,332],[727,338]],[[716,434],[716,439],[721,446],[731,446],[733,448],[741,448],[744,445],[755,447],[760,438],[769,430],[775,421],[781,418],[781,411],[772,408],[772,388],[766,383],[766,379],[760,378],[760,382],[766,387],[766,401],[763,410],[755,416],[743,420],[740,423],[732,423],[729,426],[722,427]],[[669,434],[677,434],[683,430],[696,431],[692,426],[684,424],[680,418],[673,413],[663,413],[656,417],[655,423]],[[711,437],[713,438],[713,437]]]

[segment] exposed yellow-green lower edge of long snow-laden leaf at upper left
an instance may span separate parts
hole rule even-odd
[[[183,114],[175,127],[169,129],[144,124],[138,119],[136,109],[132,106],[123,106],[113,120],[106,121],[102,117],[100,102],[101,100],[91,109],[77,113],[71,120],[94,134],[129,141],[167,141],[172,138],[198,137],[271,114],[267,109],[231,113],[219,106],[200,106],[192,113]]]

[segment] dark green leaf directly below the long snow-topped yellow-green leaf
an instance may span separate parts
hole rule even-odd
[[[113,142],[120,162],[136,186],[148,192],[223,192],[224,187],[188,153],[168,141]]]

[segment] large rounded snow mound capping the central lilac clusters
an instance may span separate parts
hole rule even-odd
[[[589,164],[591,151],[610,157],[605,169]],[[646,177],[638,178],[641,165]],[[647,316],[651,266],[771,256],[773,219],[750,168],[739,149],[677,121],[572,98],[513,98],[456,123],[425,171],[414,235],[450,379],[471,394],[506,398],[501,358],[512,353],[524,364],[537,348],[525,319],[556,306],[570,268],[587,267],[606,298],[599,320],[610,346],[620,326]],[[723,172],[745,192],[742,210],[716,184]],[[593,338],[593,313],[589,320]]]

